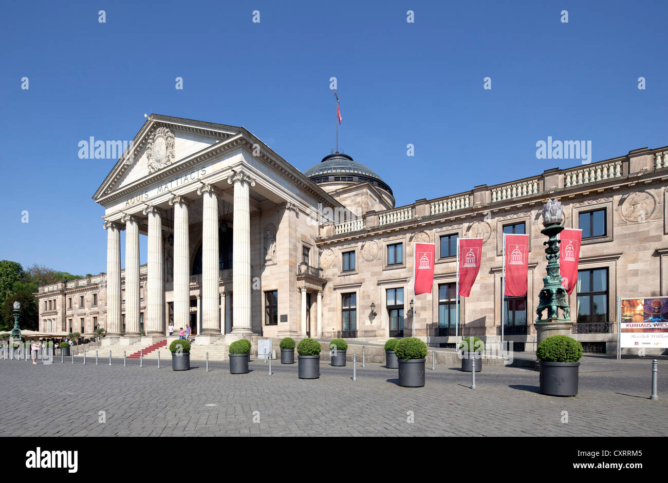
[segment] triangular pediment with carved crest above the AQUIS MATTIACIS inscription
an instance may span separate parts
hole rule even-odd
[[[98,201],[240,132],[225,124],[151,115],[96,191]]]

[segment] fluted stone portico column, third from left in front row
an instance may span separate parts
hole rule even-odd
[[[154,206],[144,208],[148,215],[148,272],[146,301],[146,335],[165,333],[164,256],[162,254],[162,217],[164,211]]]

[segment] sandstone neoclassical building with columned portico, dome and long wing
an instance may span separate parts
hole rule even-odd
[[[588,352],[613,352],[618,298],[668,295],[667,180],[668,147],[643,148],[395,207],[391,187],[349,155],[301,173],[243,127],[151,115],[94,195],[106,274],[40,287],[40,330],[101,326],[105,344],[148,345],[172,322],[190,325],[196,344],[415,334],[452,346],[456,239],[482,237],[459,334],[500,340],[504,311],[506,339],[533,350],[540,213],[556,197],[564,225],[582,229],[573,335]],[[524,298],[502,296],[504,232],[529,235]],[[412,294],[413,242],[436,246],[432,294]]]

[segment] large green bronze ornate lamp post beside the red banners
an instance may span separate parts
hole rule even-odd
[[[561,285],[561,275],[559,273],[559,244],[560,239],[557,235],[564,229],[561,223],[564,221],[562,215],[561,203],[557,199],[548,199],[543,206],[542,211],[544,228],[540,233],[548,237],[545,249],[547,259],[547,276],[543,277],[543,288],[538,294],[538,308],[536,308],[536,332],[538,334],[537,344],[540,344],[546,337],[556,335],[568,335],[572,328],[570,321],[570,308],[566,298],[566,289]],[[543,311],[547,309],[547,318],[542,318]],[[562,317],[559,317],[558,310],[562,311]]]

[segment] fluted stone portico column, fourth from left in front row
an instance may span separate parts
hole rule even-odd
[[[188,205],[181,195],[172,197],[174,206],[174,331],[190,322],[190,255],[188,248]]]

